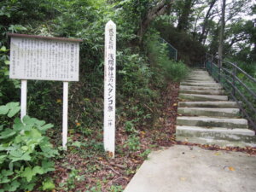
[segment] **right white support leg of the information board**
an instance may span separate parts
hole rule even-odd
[[[63,82],[62,147],[67,149],[68,82]]]

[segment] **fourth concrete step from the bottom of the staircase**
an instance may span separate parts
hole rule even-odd
[[[236,102],[178,102],[179,108],[238,108]]]

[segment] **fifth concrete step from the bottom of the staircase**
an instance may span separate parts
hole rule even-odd
[[[215,95],[209,96],[209,95],[180,93],[178,97],[185,101],[195,101],[195,102],[228,101],[228,96],[215,96]]]

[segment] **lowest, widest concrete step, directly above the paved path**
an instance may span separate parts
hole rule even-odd
[[[199,126],[176,126],[177,141],[201,144],[217,144],[219,146],[251,146],[255,147],[255,132],[248,129],[229,129]]]

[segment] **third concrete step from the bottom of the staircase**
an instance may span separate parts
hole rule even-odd
[[[238,117],[239,108],[177,108],[177,113],[189,116]]]

